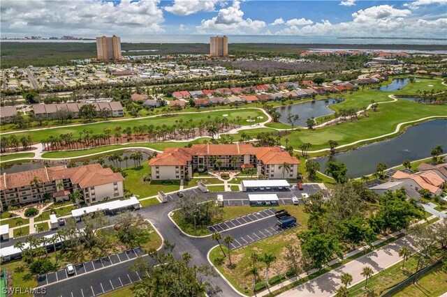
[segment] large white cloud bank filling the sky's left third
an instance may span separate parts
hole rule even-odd
[[[64,34],[96,36],[123,34],[141,29],[149,33],[163,31],[163,10],[160,0],[95,0],[33,1],[2,0],[2,33],[42,33],[44,36]]]

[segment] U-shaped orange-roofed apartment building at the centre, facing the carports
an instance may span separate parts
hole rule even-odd
[[[154,180],[179,180],[192,177],[196,170],[255,167],[265,178],[297,178],[300,161],[279,147],[254,147],[251,144],[193,144],[190,148],[166,148],[149,160]],[[284,168],[284,163],[290,169]]]

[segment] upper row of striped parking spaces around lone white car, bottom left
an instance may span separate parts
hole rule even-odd
[[[122,261],[135,259],[136,257],[141,256],[142,254],[144,254],[144,252],[142,252],[140,248],[133,248],[131,250],[126,250],[124,252],[119,252],[118,254],[112,254],[110,256],[103,257],[100,259],[95,259],[85,263],[76,264],[74,275],[68,275],[66,273],[65,268],[59,269],[59,271],[55,271],[52,273],[47,273],[45,275],[39,275],[37,277],[38,287],[45,286],[47,284],[52,284],[53,282],[59,282],[61,280],[82,275],[84,273],[89,273],[91,271],[96,271],[98,269],[105,268],[108,266],[113,266],[115,264],[122,263]]]

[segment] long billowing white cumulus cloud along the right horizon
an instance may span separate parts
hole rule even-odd
[[[322,20],[303,27],[288,26],[274,32],[277,35],[303,36],[388,36],[439,37],[447,34],[447,18],[424,20],[413,17],[411,10],[389,5],[372,6],[353,13],[350,22],[332,24]]]

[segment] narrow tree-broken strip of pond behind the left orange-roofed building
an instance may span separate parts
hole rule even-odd
[[[132,152],[125,152],[122,154],[122,158],[124,158],[124,156],[130,157],[130,155],[132,154]],[[104,164],[105,165],[113,165],[112,161],[108,160],[108,156],[103,155],[101,158],[104,159]],[[141,162],[146,162],[149,159],[149,155],[147,155],[147,153],[142,152],[142,158],[143,160]],[[90,164],[96,163],[96,160],[98,160],[98,158],[94,158],[91,157],[88,159]],[[45,162],[45,161],[43,161]],[[1,167],[1,174],[6,173],[6,174],[11,174],[11,173],[16,173],[16,172],[24,172],[27,170],[34,170],[34,169],[39,169],[39,168],[43,168],[43,162],[24,162],[24,163],[17,163],[17,164],[13,164],[13,165],[4,165]],[[82,165],[82,161],[78,161],[76,162],[76,165]],[[52,166],[57,166],[57,165],[66,165],[66,162],[52,162],[50,163],[50,167]],[[129,167],[133,166],[133,160],[129,159],[127,161],[127,165]],[[122,161],[121,162],[121,167],[122,168],[126,168],[126,161]]]

